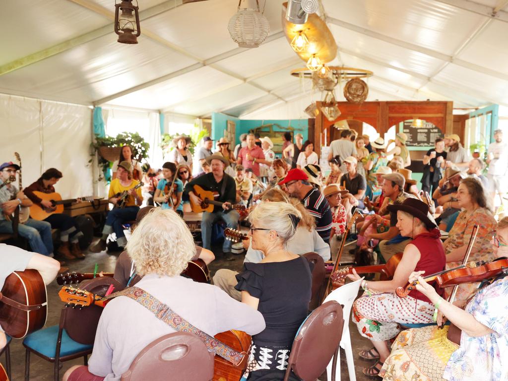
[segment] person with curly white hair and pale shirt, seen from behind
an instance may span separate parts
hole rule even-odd
[[[256,309],[211,284],[180,276],[196,248],[188,227],[173,210],[152,209],[133,232],[127,251],[143,276],[136,287],[198,329],[214,336],[231,329],[253,335],[265,328]],[[104,308],[88,366],[70,368],[63,381],[119,381],[142,348],[172,332],[171,326],[143,305],[119,296]]]

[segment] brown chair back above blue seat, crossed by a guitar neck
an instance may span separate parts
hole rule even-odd
[[[79,288],[93,294],[104,296],[113,284],[114,292],[124,289],[123,285],[110,276],[100,276],[85,280],[79,284]],[[104,308],[92,305],[89,307],[66,308],[64,321],[60,321],[61,327],[65,328],[71,339],[81,344],[93,344],[99,325],[99,319]]]

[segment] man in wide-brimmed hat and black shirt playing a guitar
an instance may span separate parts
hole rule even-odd
[[[213,190],[219,194],[216,201],[223,202],[223,206],[214,206],[213,212],[203,212],[201,220],[201,235],[203,237],[203,247],[211,249],[212,225],[219,219],[223,219],[228,228],[236,229],[238,227],[238,219],[240,218],[236,210],[231,210],[231,204],[236,200],[236,184],[235,179],[224,172],[228,160],[221,154],[213,154],[206,158],[207,163],[212,168],[211,173],[207,173],[193,180],[190,180],[184,189],[184,194],[188,195],[191,201],[200,204],[202,200],[193,192],[193,186],[199,185],[205,189]],[[225,239],[223,251],[228,261],[233,260],[231,255],[231,241]]]

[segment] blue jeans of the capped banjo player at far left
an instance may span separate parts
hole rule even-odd
[[[13,233],[12,222],[1,220],[0,233]],[[24,224],[18,225],[18,233],[26,238],[30,248],[43,256],[48,256],[53,252],[53,239],[51,238],[51,224],[46,221],[28,218]]]

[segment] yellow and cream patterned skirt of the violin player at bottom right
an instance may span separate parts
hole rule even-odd
[[[459,347],[447,339],[449,326],[402,331],[379,372],[386,381],[441,381],[444,367]]]

